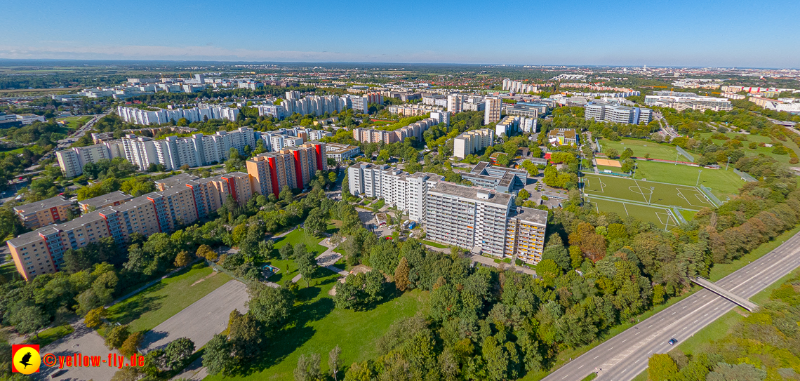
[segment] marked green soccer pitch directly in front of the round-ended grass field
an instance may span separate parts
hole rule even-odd
[[[606,199],[646,203],[662,207],[682,207],[698,211],[703,207],[714,207],[706,195],[694,186],[668,184],[606,176],[602,174],[584,174],[583,192],[586,195],[598,195]]]

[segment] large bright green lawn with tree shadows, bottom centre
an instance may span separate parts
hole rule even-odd
[[[337,277],[328,275],[314,279],[311,287],[301,288],[301,298],[305,301],[295,305],[291,314],[294,321],[284,331],[267,339],[270,345],[262,357],[252,363],[250,374],[230,378],[210,375],[206,380],[293,379],[292,372],[297,367],[298,357],[311,353],[322,356],[322,371],[327,372],[328,352],[337,345],[342,348],[340,359],[346,366],[375,359],[378,357],[376,340],[386,333],[392,323],[413,316],[418,311],[423,314],[426,311],[429,293],[422,291],[394,295],[369,311],[335,308],[328,291]],[[342,371],[339,379],[343,377]]]

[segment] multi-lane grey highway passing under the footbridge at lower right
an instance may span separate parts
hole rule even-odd
[[[750,298],[797,267],[800,233],[716,284]],[[579,381],[599,370],[597,381],[629,381],[645,371],[650,355],[674,348],[667,343],[670,339],[682,343],[734,307],[736,304],[702,289],[564,364],[544,380]]]

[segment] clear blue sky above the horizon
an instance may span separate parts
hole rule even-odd
[[[797,0],[2,3],[0,58],[800,67]]]

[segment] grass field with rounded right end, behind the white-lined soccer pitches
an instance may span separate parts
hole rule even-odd
[[[698,181],[698,168],[696,166],[674,165],[666,162],[648,162],[637,160],[638,169],[634,178],[646,178],[648,181],[670,182],[678,185],[694,186]],[[738,195],[739,188],[744,185],[744,180],[735,174],[732,169],[719,170],[702,169],[700,183],[711,188],[711,193],[722,201],[727,196]],[[694,209],[694,208],[693,208]]]

